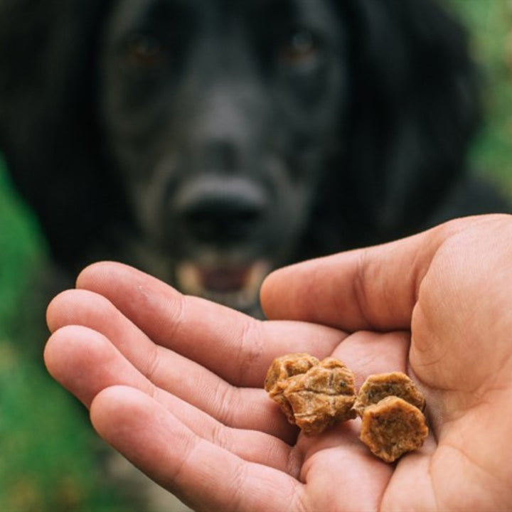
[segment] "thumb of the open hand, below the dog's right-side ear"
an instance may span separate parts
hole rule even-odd
[[[439,246],[466,218],[385,245],[310,260],[270,274],[262,306],[271,319],[358,329],[410,329],[418,289]]]

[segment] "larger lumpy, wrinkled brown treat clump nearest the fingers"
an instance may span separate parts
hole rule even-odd
[[[319,361],[305,353],[277,358],[267,372],[265,390],[307,435],[356,417],[353,373],[334,358]]]

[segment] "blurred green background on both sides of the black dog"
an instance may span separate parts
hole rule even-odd
[[[487,117],[471,162],[512,198],[512,0],[447,1],[469,27],[484,71]],[[13,314],[46,256],[36,220],[0,160],[0,511],[134,510],[97,475],[85,414],[16,339]]]

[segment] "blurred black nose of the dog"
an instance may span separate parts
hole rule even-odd
[[[256,238],[265,211],[265,194],[260,188],[237,178],[200,179],[176,201],[185,235],[213,245]]]

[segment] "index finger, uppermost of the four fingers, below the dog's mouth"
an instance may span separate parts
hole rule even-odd
[[[257,321],[219,304],[183,296],[148,274],[116,263],[87,267],[77,287],[106,297],[151,340],[238,386],[262,387],[277,356],[305,351],[325,357],[344,338],[340,331],[324,326]]]

